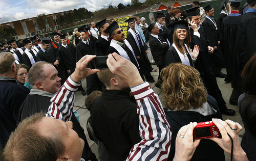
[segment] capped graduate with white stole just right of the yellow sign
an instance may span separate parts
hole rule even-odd
[[[127,38],[126,40],[131,44],[135,56],[137,58],[137,61],[140,65],[140,69],[142,73],[146,77],[146,81],[150,83],[154,83],[154,78],[151,75],[151,64],[150,62],[146,59],[146,47],[145,43],[142,40],[139,31],[135,29],[135,21],[134,18],[129,18],[126,20],[128,22],[128,25],[130,29],[127,31]]]

